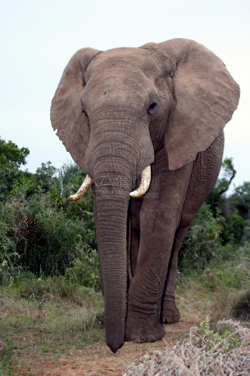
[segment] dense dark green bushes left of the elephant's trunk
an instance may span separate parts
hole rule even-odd
[[[21,267],[37,276],[67,273],[85,286],[99,287],[91,193],[77,203],[59,193],[76,191],[84,174],[77,165],[64,164],[59,179],[47,162],[31,179],[14,183],[10,201],[0,206],[2,283],[12,281]]]

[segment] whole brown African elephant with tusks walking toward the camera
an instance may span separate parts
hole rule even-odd
[[[162,323],[180,318],[178,251],[216,182],[223,128],[239,96],[223,62],[189,39],[84,48],[63,72],[51,122],[88,173],[71,199],[94,190],[106,343],[113,352],[124,338],[162,339]],[[133,178],[141,176],[138,187]],[[103,194],[102,186],[112,192]]]

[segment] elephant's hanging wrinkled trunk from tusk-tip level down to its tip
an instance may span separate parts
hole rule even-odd
[[[115,195],[115,193],[113,192]],[[127,211],[129,199],[96,199],[98,253],[102,270],[106,343],[123,345],[127,293]]]

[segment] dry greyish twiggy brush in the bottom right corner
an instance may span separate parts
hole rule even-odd
[[[123,376],[248,376],[250,374],[250,329],[239,323],[219,321],[210,327],[193,327],[189,339],[166,350],[146,354],[128,367]]]

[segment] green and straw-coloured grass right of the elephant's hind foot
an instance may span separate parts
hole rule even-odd
[[[199,273],[193,270],[179,273],[175,292],[181,316],[189,318],[197,314],[199,318],[209,314],[215,321],[237,318],[238,302],[247,301],[249,267],[246,246],[228,255],[226,260],[211,262]]]

